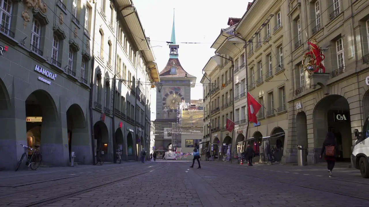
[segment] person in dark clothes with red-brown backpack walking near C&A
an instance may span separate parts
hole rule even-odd
[[[332,170],[334,168],[334,164],[336,163],[335,155],[338,155],[339,157],[337,141],[335,139],[334,133],[331,131],[328,132],[327,136],[325,137],[319,158],[322,158],[324,151],[324,159],[325,161],[327,161],[328,177],[331,178]]]

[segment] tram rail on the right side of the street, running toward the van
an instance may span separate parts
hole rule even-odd
[[[213,166],[215,166],[214,164],[211,164]],[[218,165],[219,166],[219,165]],[[228,169],[219,169],[218,170],[221,170],[223,172],[230,172],[229,171],[229,167]],[[363,200],[369,200],[369,197],[364,197],[364,196],[356,196],[356,195],[352,195],[352,194],[348,194],[348,193],[342,193],[342,192],[338,192],[338,191],[334,191],[334,190],[328,190],[328,189],[323,189],[323,188],[319,188],[319,187],[312,187],[312,186],[307,186],[307,185],[302,185],[302,184],[297,184],[297,183],[293,183],[293,182],[286,182],[286,181],[283,181],[283,180],[278,180],[278,179],[272,179],[272,178],[265,178],[265,177],[262,177],[262,176],[256,176],[256,175],[250,175],[249,173],[247,173],[248,171],[245,171],[245,169],[239,169],[239,168],[233,168],[232,170],[237,170],[237,171],[242,171],[242,176],[249,176],[249,177],[252,177],[252,178],[259,178],[259,179],[264,179],[264,180],[269,180],[269,181],[274,181],[274,182],[279,182],[279,183],[283,183],[283,184],[287,184],[287,185],[293,185],[293,186],[299,186],[299,187],[303,187],[303,188],[307,188],[307,189],[313,189],[313,190],[319,190],[319,191],[323,191],[323,192],[328,192],[328,193],[334,193],[334,194],[338,194],[338,195],[341,195],[341,196],[349,196],[349,197],[353,197],[353,198],[357,198],[357,199],[363,199]],[[197,173],[196,171],[194,171],[197,175],[201,176],[199,173]],[[255,171],[254,171],[255,172]],[[318,178],[318,177],[317,177]],[[320,178],[323,178],[323,177],[320,177]],[[330,180],[332,178],[329,178]],[[344,179],[337,179],[337,178],[333,178],[334,180],[337,180],[337,181],[341,181],[341,182],[351,182],[349,180],[344,180]],[[362,184],[362,185],[369,185],[367,183],[359,183],[357,181],[354,181],[354,183],[358,183],[358,184]],[[344,185],[344,184],[342,184]]]

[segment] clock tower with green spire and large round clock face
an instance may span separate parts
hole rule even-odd
[[[174,14],[172,35],[169,42],[169,60],[159,73],[161,89],[156,91],[155,150],[168,151],[174,141],[175,148],[180,147],[180,134],[177,115],[182,105],[190,102],[191,88],[196,77],[188,74],[179,62],[179,45],[176,43]],[[160,87],[158,87],[160,88]],[[175,137],[175,138],[173,138]]]

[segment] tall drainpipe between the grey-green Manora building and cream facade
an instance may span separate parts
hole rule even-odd
[[[95,13],[94,13],[94,21],[96,21],[96,3],[95,4]],[[90,131],[91,131],[91,146],[92,146],[92,163],[93,165],[96,165],[95,163],[95,134],[93,129],[93,113],[92,113],[92,96],[93,96],[93,78],[94,78],[94,63],[95,63],[95,56],[94,56],[94,45],[95,45],[95,25],[93,25],[93,37],[92,37],[92,63],[91,63],[91,76],[90,76]]]

